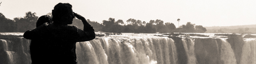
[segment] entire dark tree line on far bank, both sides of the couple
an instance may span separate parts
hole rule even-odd
[[[51,13],[47,15],[51,16]],[[5,18],[5,16],[0,13],[0,32],[25,32],[29,29],[36,28],[36,21],[38,16],[36,13],[26,12],[25,16],[14,18],[10,20]],[[128,19],[126,20],[115,20],[114,18],[109,18],[108,20],[103,20],[102,23],[96,21],[91,21],[87,19],[95,32],[115,32],[115,33],[171,33],[171,32],[181,32],[181,33],[204,33],[206,28],[201,25],[195,25],[191,22],[187,22],[186,25],[181,25],[179,28],[173,23],[166,22],[163,20],[150,20],[148,23],[146,21]],[[71,26],[76,26],[83,29],[83,23],[81,20],[73,19],[73,24]]]

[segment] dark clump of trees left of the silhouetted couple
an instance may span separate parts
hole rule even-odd
[[[25,32],[36,28],[38,16],[36,16],[35,12],[26,12],[23,18],[14,18],[14,20],[5,18],[2,13],[0,15],[0,32]]]

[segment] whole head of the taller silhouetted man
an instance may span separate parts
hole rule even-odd
[[[68,3],[59,3],[52,10],[52,20],[54,24],[72,24],[73,15],[72,5]]]

